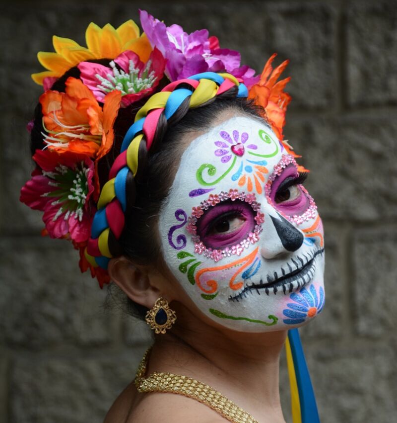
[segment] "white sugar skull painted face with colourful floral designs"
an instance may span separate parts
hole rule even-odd
[[[244,332],[291,329],[324,306],[324,238],[303,174],[274,133],[238,116],[184,152],[159,232],[199,309]]]

